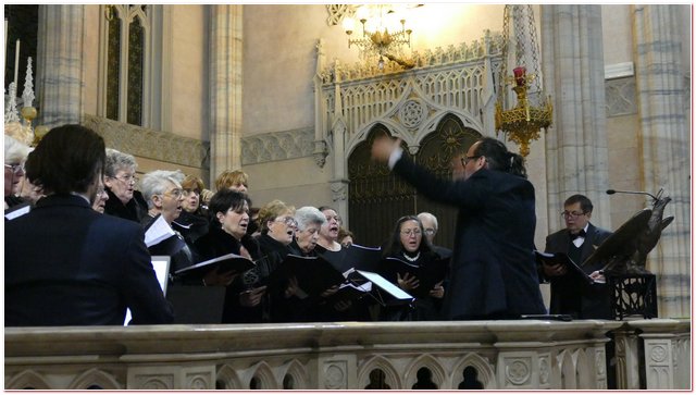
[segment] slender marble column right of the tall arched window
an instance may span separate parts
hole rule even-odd
[[[241,4],[210,5],[210,178],[241,168]]]

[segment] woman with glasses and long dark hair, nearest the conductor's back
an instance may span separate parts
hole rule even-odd
[[[431,264],[443,264],[433,251],[431,243],[423,237],[425,231],[415,215],[397,220],[394,232],[383,249],[382,275],[408,294],[415,296],[412,306],[382,308],[380,318],[384,321],[433,321],[440,319],[440,308],[445,288],[443,282],[431,289],[420,289],[418,269]],[[444,279],[443,279],[444,280]]]

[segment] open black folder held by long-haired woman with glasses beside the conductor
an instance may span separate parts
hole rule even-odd
[[[415,266],[395,257],[387,257],[384,261],[383,269],[394,281],[397,273],[403,277],[406,273],[410,273],[418,279],[418,288],[411,289],[417,297],[426,297],[435,285],[445,280],[449,270],[449,259],[435,259],[424,266]]]

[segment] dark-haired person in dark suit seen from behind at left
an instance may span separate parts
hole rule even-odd
[[[123,325],[173,320],[140,224],[91,209],[101,186],[103,139],[79,125],[53,128],[26,174],[46,193],[5,223],[7,326]]]

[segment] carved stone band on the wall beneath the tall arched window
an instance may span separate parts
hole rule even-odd
[[[210,169],[210,143],[208,141],[90,114],[83,115],[83,125],[102,136],[109,148],[135,157]]]

